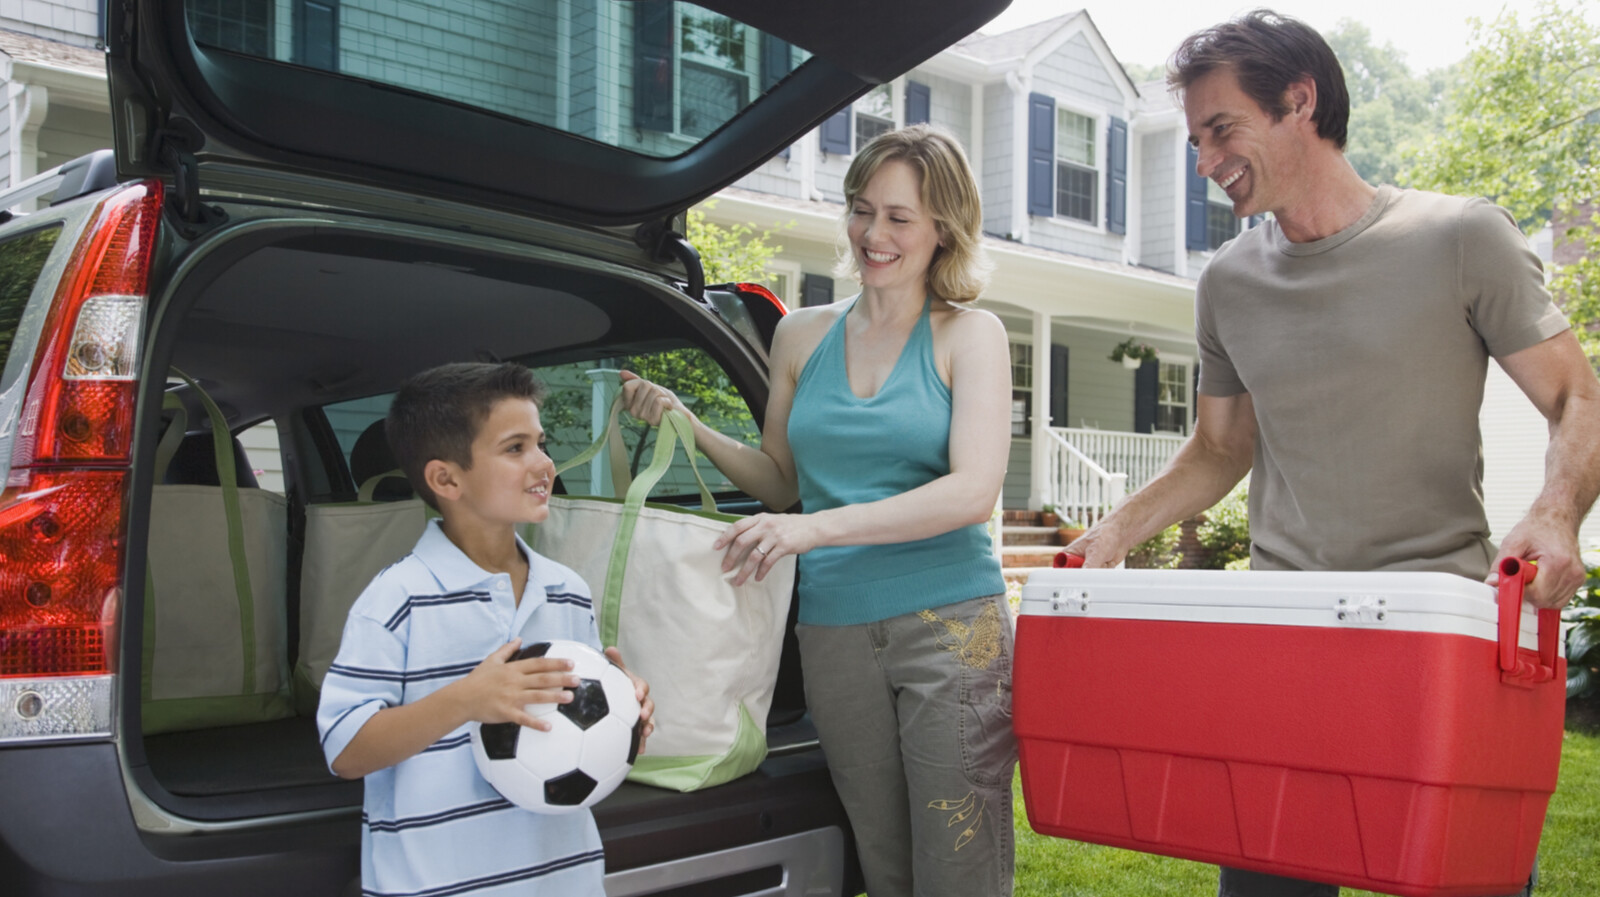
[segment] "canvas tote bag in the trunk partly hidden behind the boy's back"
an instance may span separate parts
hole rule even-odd
[[[411,553],[427,528],[422,499],[374,502],[376,486],[405,475],[379,473],[362,483],[357,500],[306,507],[301,555],[301,632],[294,660],[294,708],[310,716],[322,681],[339,654],[350,604],[384,568]]]

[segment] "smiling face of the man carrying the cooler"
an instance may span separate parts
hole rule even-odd
[[[1184,90],[1195,171],[1234,201],[1234,214],[1280,213],[1302,187],[1293,115],[1274,122],[1240,86],[1232,69],[1206,72]]]

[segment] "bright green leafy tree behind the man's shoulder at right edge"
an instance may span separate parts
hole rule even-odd
[[[1504,11],[1474,22],[1442,139],[1406,181],[1488,197],[1530,233],[1560,235],[1550,293],[1584,350],[1600,358],[1600,26],[1595,2],[1544,0],[1526,24]]]

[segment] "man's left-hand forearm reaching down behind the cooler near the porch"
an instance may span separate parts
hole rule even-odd
[[[1130,548],[1214,505],[1250,472],[1256,456],[1250,393],[1197,401],[1195,432],[1166,467],[1067,547],[1083,555],[1083,566],[1120,564]]]

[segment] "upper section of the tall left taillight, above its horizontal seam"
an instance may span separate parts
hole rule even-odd
[[[11,451],[18,468],[126,462],[133,445],[134,377],[162,217],[160,182],[104,200],[72,249],[45,320],[45,341]]]

